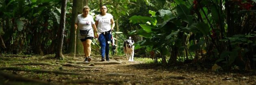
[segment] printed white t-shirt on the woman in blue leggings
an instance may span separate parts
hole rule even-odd
[[[111,30],[111,19],[113,18],[113,16],[109,13],[106,13],[106,15],[102,16],[102,15],[97,15],[95,17],[95,20],[98,21],[98,32],[107,32],[109,30]]]

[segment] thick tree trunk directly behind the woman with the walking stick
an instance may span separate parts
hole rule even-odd
[[[75,52],[75,21],[78,14],[82,13],[82,8],[84,6],[83,3],[84,0],[73,0],[73,6],[72,6],[72,19],[71,19],[71,28],[70,28],[70,37],[69,37],[69,46],[67,53],[74,53]],[[79,33],[78,30],[76,30],[76,33]],[[76,34],[78,36],[78,34]],[[81,41],[76,37],[76,54],[82,54],[83,46],[81,44]]]

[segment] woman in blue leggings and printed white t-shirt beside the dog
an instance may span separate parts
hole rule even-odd
[[[113,16],[110,13],[106,13],[106,6],[100,6],[100,14],[95,17],[95,25],[98,30],[98,40],[100,41],[100,51],[102,59],[105,61],[104,56],[106,55],[106,61],[109,61],[109,44],[111,43],[111,30],[114,30],[115,23]],[[112,26],[111,26],[112,25]]]

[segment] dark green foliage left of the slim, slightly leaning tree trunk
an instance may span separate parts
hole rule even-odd
[[[4,0],[0,4],[0,28],[7,53],[53,53],[59,27],[61,0]],[[70,2],[68,2],[70,3]],[[70,10],[70,5],[67,5]],[[67,17],[68,17],[67,12]],[[67,21],[69,21],[67,19]],[[67,25],[68,27],[68,25]],[[68,34],[65,34],[68,36]],[[12,39],[9,39],[9,38]],[[64,44],[64,47],[67,46]],[[52,49],[52,50],[49,50]],[[3,51],[1,51],[3,52]]]

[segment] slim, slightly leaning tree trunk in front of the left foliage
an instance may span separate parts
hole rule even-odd
[[[56,51],[55,58],[63,60],[63,54],[62,54],[62,44],[63,44],[63,38],[64,38],[64,29],[65,29],[65,16],[66,16],[66,7],[67,7],[67,0],[62,0],[61,2],[61,21],[60,21],[60,28],[58,32],[58,48]]]

